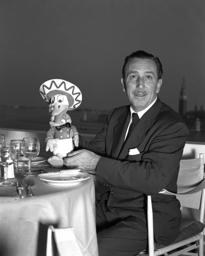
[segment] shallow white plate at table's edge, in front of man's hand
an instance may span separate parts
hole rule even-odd
[[[54,172],[39,174],[37,177],[53,186],[74,186],[89,179],[90,175],[82,172]]]

